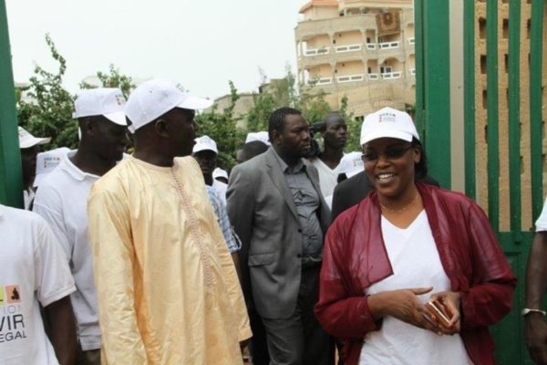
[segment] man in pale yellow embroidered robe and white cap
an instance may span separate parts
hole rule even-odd
[[[243,362],[242,290],[190,157],[195,110],[211,104],[165,79],[129,97],[135,152],[88,201],[105,363]]]

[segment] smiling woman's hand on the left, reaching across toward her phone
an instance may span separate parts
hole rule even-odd
[[[442,326],[431,318],[418,298],[432,289],[433,287],[417,287],[377,293],[368,297],[368,308],[374,318],[391,316],[441,335]]]

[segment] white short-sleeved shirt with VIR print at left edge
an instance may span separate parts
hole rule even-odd
[[[37,214],[0,205],[0,233],[0,363],[57,364],[38,302],[76,290],[67,262]]]

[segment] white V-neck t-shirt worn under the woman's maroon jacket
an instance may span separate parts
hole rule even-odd
[[[382,235],[394,274],[368,287],[366,295],[433,287],[430,293],[419,296],[425,304],[431,294],[450,289],[425,211],[406,229],[382,216]],[[369,364],[466,365],[471,361],[459,335],[440,337],[387,316],[382,320],[382,328],[365,336],[359,365]]]

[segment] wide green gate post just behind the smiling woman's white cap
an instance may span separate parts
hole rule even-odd
[[[430,175],[444,188],[450,172],[449,1],[416,0],[416,113]]]

